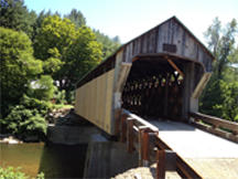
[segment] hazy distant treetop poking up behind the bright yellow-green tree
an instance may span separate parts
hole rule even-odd
[[[83,25],[86,25],[86,18],[76,9],[72,9],[71,13],[64,17],[69,19],[75,24],[76,30]]]

